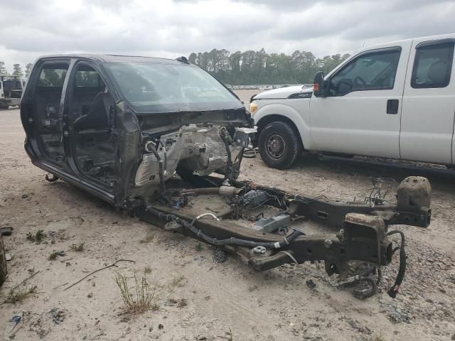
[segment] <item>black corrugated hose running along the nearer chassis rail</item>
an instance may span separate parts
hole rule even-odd
[[[282,247],[285,247],[286,245],[290,244],[296,237],[298,237],[301,232],[299,231],[294,231],[288,236],[284,237],[284,239],[281,242],[254,242],[252,240],[246,240],[246,239],[239,239],[235,237],[231,237],[228,239],[216,239],[213,237],[208,236],[204,232],[202,232],[200,229],[196,228],[194,226],[194,223],[196,222],[197,218],[195,218],[192,222],[187,222],[186,220],[183,220],[176,215],[171,215],[168,213],[161,212],[159,210],[155,210],[151,206],[146,206],[146,211],[157,215],[158,217],[165,218],[167,221],[173,220],[174,222],[177,222],[178,224],[181,224],[185,229],[188,229],[189,231],[193,232],[193,234],[196,234],[196,236],[200,239],[203,239],[204,242],[207,242],[208,244],[212,244],[215,246],[222,246],[222,245],[239,245],[240,247],[265,247],[266,249],[281,249]]]

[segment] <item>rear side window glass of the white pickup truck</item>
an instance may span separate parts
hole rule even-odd
[[[454,43],[417,45],[411,86],[417,89],[446,87],[450,82]]]

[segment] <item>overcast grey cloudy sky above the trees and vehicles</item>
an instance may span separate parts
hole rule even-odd
[[[51,53],[176,58],[227,48],[318,57],[362,45],[455,33],[446,0],[0,0],[0,60]]]

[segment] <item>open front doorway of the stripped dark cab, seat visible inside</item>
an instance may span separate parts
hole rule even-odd
[[[117,168],[112,94],[100,72],[90,63],[77,63],[68,84],[68,132],[75,172],[103,187],[113,188]]]

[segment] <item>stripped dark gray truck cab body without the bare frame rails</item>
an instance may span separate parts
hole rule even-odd
[[[251,126],[235,94],[186,58],[39,58],[21,104],[33,163],[122,208],[176,172],[235,178]]]

